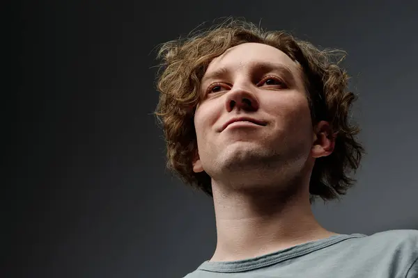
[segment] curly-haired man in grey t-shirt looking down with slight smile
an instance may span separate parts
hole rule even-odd
[[[364,153],[339,53],[236,20],[162,45],[168,166],[215,204],[215,254],[187,278],[418,277],[418,231],[336,234],[311,211]]]

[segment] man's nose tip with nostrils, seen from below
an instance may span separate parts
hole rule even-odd
[[[254,93],[242,88],[229,91],[225,101],[226,111],[233,109],[254,112],[258,110],[258,100]]]

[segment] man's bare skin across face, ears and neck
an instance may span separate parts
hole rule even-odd
[[[258,124],[231,119],[250,117]],[[260,256],[335,235],[309,203],[315,159],[334,149],[329,124],[312,126],[300,66],[245,43],[212,60],[194,117],[194,172],[212,178],[217,247],[211,261]]]

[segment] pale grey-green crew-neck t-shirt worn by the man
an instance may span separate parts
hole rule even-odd
[[[418,278],[418,230],[336,235],[252,259],[205,261],[185,278]]]

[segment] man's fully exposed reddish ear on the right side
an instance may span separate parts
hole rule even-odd
[[[314,143],[311,156],[319,158],[329,156],[334,151],[336,133],[332,133],[329,122],[320,121],[314,127]]]

